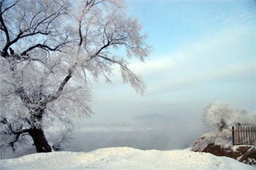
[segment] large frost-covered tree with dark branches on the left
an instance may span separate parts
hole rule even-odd
[[[2,146],[26,134],[50,152],[45,126],[90,115],[89,79],[111,81],[113,65],[143,94],[127,60],[143,61],[149,47],[123,1],[1,0],[0,10]]]

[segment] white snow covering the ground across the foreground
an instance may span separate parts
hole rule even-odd
[[[255,167],[228,157],[216,157],[188,149],[159,151],[112,147],[93,152],[50,152],[30,154],[16,159],[1,159],[0,169],[255,170]]]

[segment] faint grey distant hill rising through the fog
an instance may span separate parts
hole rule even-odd
[[[134,120],[143,125],[169,125],[173,121],[171,117],[160,114],[138,116]]]

